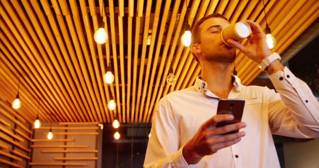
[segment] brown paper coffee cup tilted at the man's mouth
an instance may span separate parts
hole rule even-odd
[[[247,38],[250,33],[251,29],[249,24],[246,22],[238,22],[224,27],[224,29],[221,31],[221,39],[226,45],[232,46],[227,43],[228,39],[233,39],[240,42],[241,40]]]

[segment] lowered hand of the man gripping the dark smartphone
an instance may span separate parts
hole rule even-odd
[[[225,125],[215,128],[216,123],[233,120],[229,114],[215,115],[204,122],[195,136],[184,145],[182,155],[187,164],[197,164],[204,156],[212,155],[222,148],[226,148],[241,140],[245,132],[222,135],[224,133],[246,127],[245,122]]]

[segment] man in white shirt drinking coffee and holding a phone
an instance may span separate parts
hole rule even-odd
[[[212,14],[194,26],[190,51],[202,67],[202,76],[193,87],[159,101],[144,167],[280,167],[271,134],[319,137],[318,101],[278,59],[265,65],[278,93],[234,80],[230,64],[236,48],[258,64],[278,57],[268,48],[261,27],[245,22],[252,29],[249,44],[228,40],[234,47],[221,39],[222,29],[229,25],[225,17]],[[220,98],[245,99],[242,122],[215,128],[216,123],[234,118],[216,115]],[[240,131],[222,135],[236,129]]]

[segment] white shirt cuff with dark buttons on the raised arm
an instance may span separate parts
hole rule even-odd
[[[293,73],[285,67],[283,71],[278,71],[275,74],[272,74],[269,76],[269,79],[271,80],[272,84],[275,88],[291,84],[294,86],[296,77],[293,75]]]

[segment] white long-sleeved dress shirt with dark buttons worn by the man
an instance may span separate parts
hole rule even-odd
[[[246,136],[239,143],[188,165],[183,146],[200,126],[216,115],[219,97],[197,77],[195,85],[164,96],[152,119],[144,167],[276,168],[280,167],[271,134],[319,137],[319,102],[306,83],[285,67],[269,76],[276,88],[243,86],[234,82],[228,99],[245,99],[242,122]],[[279,94],[280,93],[280,94]]]

